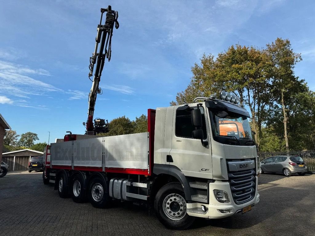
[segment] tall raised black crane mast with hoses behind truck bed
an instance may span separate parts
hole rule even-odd
[[[111,6],[108,8],[101,8],[101,17],[100,17],[100,24],[97,26],[97,35],[95,38],[95,50],[90,57],[90,65],[89,65],[89,79],[91,80],[91,76],[93,76],[94,66],[95,66],[95,73],[93,77],[92,87],[89,93],[89,109],[88,109],[88,120],[86,124],[86,132],[87,135],[96,135],[98,133],[106,133],[109,131],[108,121],[100,118],[96,118],[93,123],[93,115],[95,109],[95,102],[97,94],[102,94],[102,89],[99,87],[100,84],[100,77],[102,75],[102,70],[104,67],[105,60],[111,59],[112,53],[112,35],[113,35],[113,28],[118,29],[119,23],[117,21],[118,12],[112,10]],[[102,18],[103,14],[106,12],[106,20],[104,25],[102,25]],[[100,46],[100,50],[98,48]],[[96,65],[95,65],[96,64]],[[85,125],[85,122],[83,122]]]

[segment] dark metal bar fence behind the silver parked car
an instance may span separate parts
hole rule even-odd
[[[300,156],[306,163],[307,169],[310,172],[315,172],[315,150],[310,151],[292,151],[292,152],[260,152],[258,153],[260,161],[270,156]]]

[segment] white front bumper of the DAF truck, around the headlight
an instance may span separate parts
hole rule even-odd
[[[256,179],[256,189],[258,181]],[[214,189],[220,189],[229,194],[231,203],[220,203],[215,199],[213,194]],[[209,219],[219,219],[232,216],[236,213],[242,212],[242,209],[246,206],[251,205],[252,207],[259,202],[259,193],[255,194],[255,197],[244,203],[244,204],[235,204],[232,198],[232,193],[230,185],[228,182],[216,181],[215,183],[209,184],[209,204],[204,203],[187,203],[187,214],[189,216],[196,216]],[[205,206],[206,211],[202,210],[202,205]],[[221,213],[220,210],[229,210],[230,213]]]

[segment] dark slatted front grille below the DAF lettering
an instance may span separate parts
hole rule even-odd
[[[243,204],[255,197],[256,172],[255,169],[246,171],[229,171],[227,165],[229,183],[233,200],[236,204]]]

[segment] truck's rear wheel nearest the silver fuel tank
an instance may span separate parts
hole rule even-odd
[[[96,208],[107,208],[111,201],[106,185],[101,177],[94,177],[88,188],[88,198],[92,206]]]

